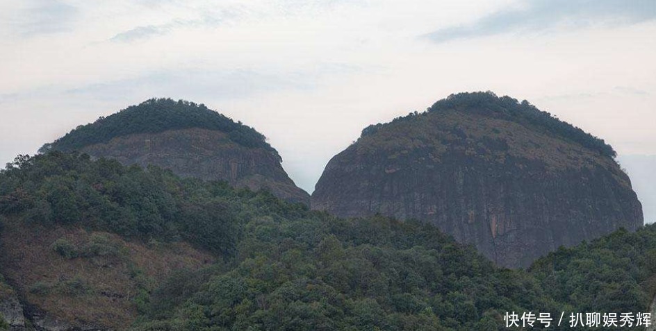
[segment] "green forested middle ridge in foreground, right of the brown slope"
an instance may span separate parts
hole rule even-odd
[[[493,309],[557,307],[525,273],[495,268],[432,226],[278,212],[245,224],[231,269],[158,289],[137,329],[473,330],[500,325]]]

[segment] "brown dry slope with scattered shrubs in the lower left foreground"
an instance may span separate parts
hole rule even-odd
[[[81,256],[63,256],[55,250],[56,241]],[[29,303],[72,325],[92,321],[119,330],[136,318],[141,292],[154,289],[173,271],[214,262],[183,242],[125,241],[108,232],[12,220],[0,242],[0,269]]]

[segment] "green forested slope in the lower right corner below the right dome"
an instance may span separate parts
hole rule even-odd
[[[577,312],[643,312],[656,295],[655,253],[656,226],[650,224],[560,248],[530,272]]]

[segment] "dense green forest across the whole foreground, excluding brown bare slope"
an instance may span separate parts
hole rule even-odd
[[[417,221],[339,219],[79,153],[8,164],[0,213],[25,226],[188,241],[219,257],[141,298],[135,330],[502,330],[505,312],[644,312],[655,289],[655,226],[515,271]]]

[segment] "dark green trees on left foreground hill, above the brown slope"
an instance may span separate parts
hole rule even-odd
[[[0,212],[44,225],[76,224],[145,240],[186,239],[231,254],[236,212],[227,206],[229,197],[212,193],[226,187],[183,180],[155,167],[123,167],[113,160],[92,162],[88,155],[54,151],[21,156],[0,171]],[[84,247],[57,241],[52,248],[67,258],[117,253],[100,235]]]

